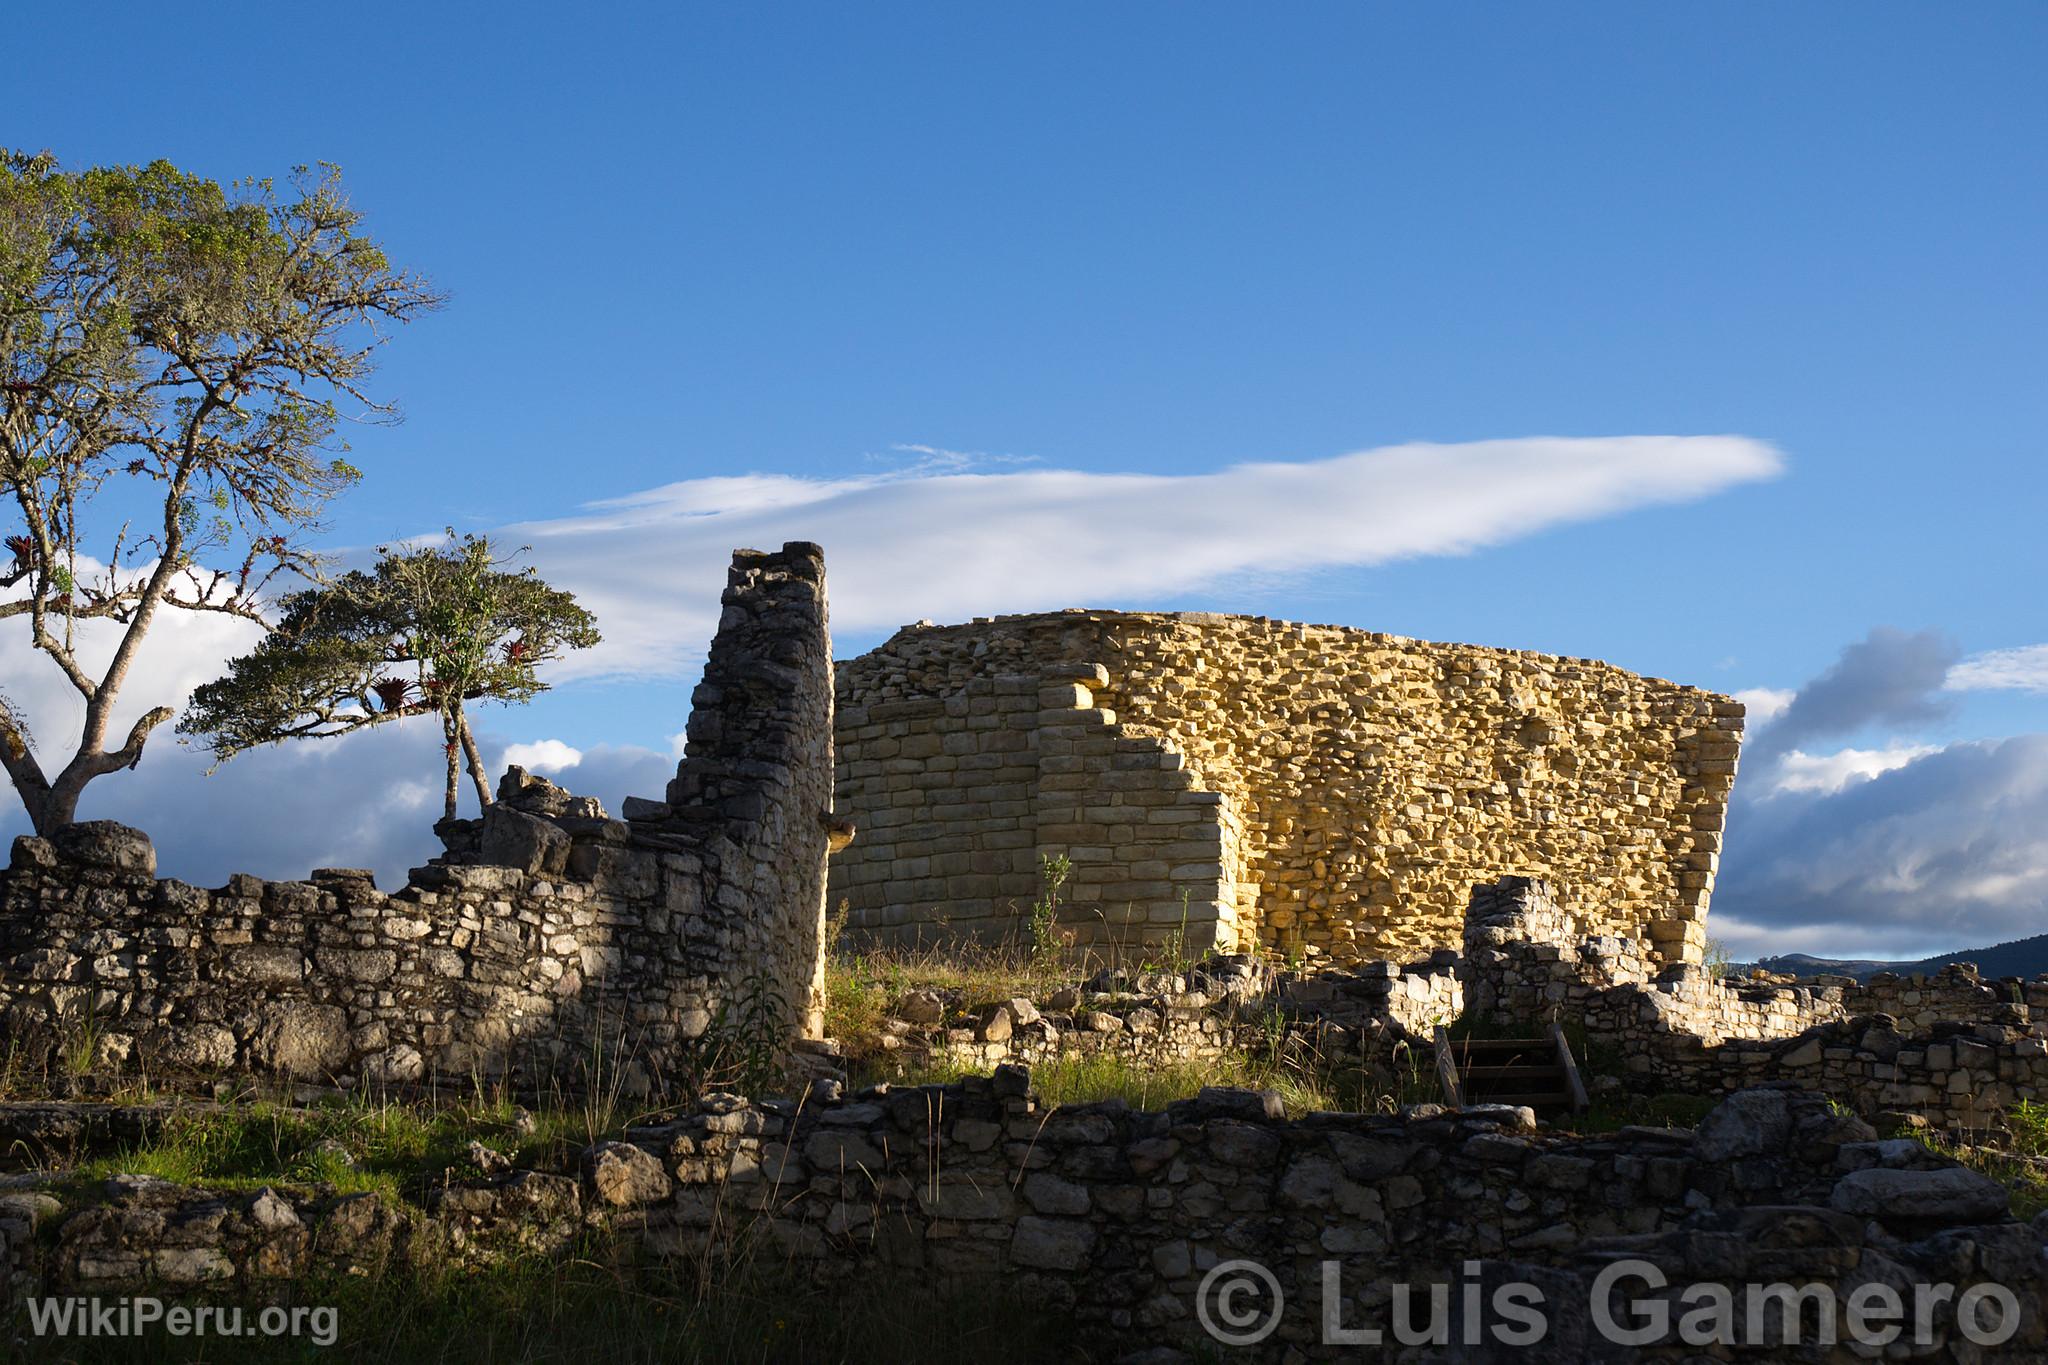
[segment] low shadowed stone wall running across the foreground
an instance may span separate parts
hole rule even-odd
[[[1217,1359],[1202,1312],[1214,1322],[1219,1308],[1243,1304],[1219,1302],[1206,1281],[1245,1261],[1264,1267],[1286,1308],[1229,1359],[1870,1359],[1847,1340],[1817,1345],[1812,1318],[1802,1326],[1798,1312],[1790,1330],[1810,1345],[1784,1347],[1782,1306],[1761,1336],[1747,1336],[1739,1314],[1735,1340],[1710,1355],[1673,1330],[1614,1342],[1595,1328],[1595,1283],[1618,1261],[1671,1285],[1659,1293],[1642,1269],[1616,1281],[1599,1308],[1628,1326],[1640,1302],[1671,1304],[1692,1285],[1745,1295],[1790,1283],[1837,1306],[1890,1285],[1909,1312],[1915,1285],[1942,1285],[1925,1340],[1913,1342],[1909,1328],[1903,1355],[2021,1361],[2042,1359],[2048,1342],[2042,1232],[2011,1220],[2003,1187],[1917,1142],[1880,1142],[1821,1097],[1786,1089],[1745,1091],[1696,1134],[1561,1138],[1530,1132],[1526,1111],[1511,1109],[1288,1119],[1274,1095],[1251,1091],[1204,1091],[1161,1113],[1047,1111],[1022,1068],[1001,1068],[852,1101],[709,1097],[684,1117],[588,1148],[575,1175],[451,1183],[424,1209],[135,1177],[100,1191],[0,1195],[0,1259],[37,1293],[264,1293],[293,1277],[379,1275],[451,1250],[588,1257],[588,1232],[659,1257],[872,1283],[877,1293],[903,1277],[999,1279],[1071,1320],[1090,1359],[1130,1365]],[[1540,1338],[1503,1342],[1495,1328],[1528,1320],[1497,1312],[1466,1336],[1466,1287],[1493,1304],[1509,1283],[1536,1291],[1524,1306],[1536,1310]],[[1397,1285],[1409,1287],[1405,1297]],[[1999,1285],[2017,1308],[1991,1349],[1958,1328],[1958,1302],[1970,1304],[1976,1285]],[[1434,1295],[1450,1312],[1434,1310]],[[1970,1324],[1980,1330],[1987,1318],[1995,1314]],[[1378,1338],[1331,1338],[1331,1320]],[[1430,1324],[1444,1336],[1397,1345],[1403,1326]]]

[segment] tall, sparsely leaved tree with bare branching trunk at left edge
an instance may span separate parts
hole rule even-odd
[[[0,151],[0,620],[27,618],[86,702],[61,761],[0,708],[37,833],[170,718],[156,706],[109,747],[160,608],[262,622],[279,575],[309,573],[303,536],[358,477],[338,424],[395,415],[365,393],[373,352],[436,303],[362,235],[332,168],[279,190]],[[100,669],[96,632],[115,641]]]

